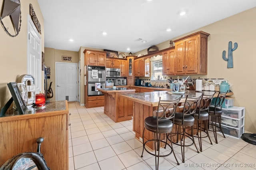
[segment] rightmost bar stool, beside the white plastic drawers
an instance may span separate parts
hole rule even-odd
[[[212,125],[212,129],[209,129],[213,131],[215,142],[218,143],[217,140],[217,131],[221,131],[223,134],[223,137],[226,138],[222,131],[221,127],[221,115],[222,115],[222,105],[225,102],[225,97],[227,92],[219,92],[218,96],[216,97],[216,101],[214,102],[214,107],[209,108],[209,126]],[[211,119],[210,119],[211,118]],[[218,120],[217,120],[218,119]],[[218,121],[218,122],[217,122]],[[217,126],[218,123],[218,126]],[[218,128],[218,130],[217,130]]]

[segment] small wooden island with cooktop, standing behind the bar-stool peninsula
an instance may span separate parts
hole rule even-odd
[[[122,87],[98,89],[104,94],[104,113],[114,122],[128,121],[132,119],[132,101],[120,97],[124,94],[135,93],[134,89]]]

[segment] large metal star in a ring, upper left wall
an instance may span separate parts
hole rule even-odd
[[[20,6],[20,0],[4,0],[4,6],[2,10],[2,16],[0,17],[0,22],[2,27],[4,28],[4,31],[11,37],[16,37],[20,32],[20,26],[21,26],[21,6]],[[3,18],[6,16],[10,16],[10,20],[14,26],[14,30],[10,28],[6,28],[4,26],[4,22],[2,21]],[[13,32],[14,34],[10,33]]]

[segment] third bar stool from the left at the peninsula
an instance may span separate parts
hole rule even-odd
[[[204,93],[199,107],[196,109],[196,113],[194,115],[195,121],[196,121],[196,128],[197,128],[197,133],[194,135],[194,137],[198,137],[198,142],[199,142],[199,147],[200,151],[202,152],[202,138],[205,138],[208,136],[210,140],[210,144],[212,144],[211,138],[209,136],[208,132],[208,119],[209,119],[209,113],[208,110],[210,108],[213,96],[216,92],[215,91],[210,91],[209,94]],[[204,127],[202,127],[202,121]],[[202,130],[203,129],[203,130]],[[206,133],[206,136],[202,137],[202,131]]]

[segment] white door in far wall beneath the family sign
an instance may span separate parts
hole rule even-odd
[[[77,64],[56,63],[57,101],[77,101]]]

